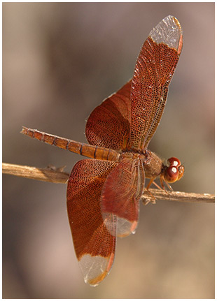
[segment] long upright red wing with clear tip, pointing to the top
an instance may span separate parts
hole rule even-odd
[[[183,45],[179,21],[165,17],[149,34],[132,78],[130,146],[146,149],[167,101],[169,83]]]

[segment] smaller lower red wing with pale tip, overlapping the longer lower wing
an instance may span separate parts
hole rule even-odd
[[[140,160],[123,159],[110,172],[102,189],[102,216],[117,216],[117,235],[134,233],[139,219],[139,200],[144,191],[145,172]],[[106,223],[107,228],[109,228]],[[109,229],[110,230],[110,229]]]

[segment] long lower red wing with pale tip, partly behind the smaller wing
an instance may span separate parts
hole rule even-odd
[[[104,224],[100,197],[106,177],[116,163],[95,159],[78,161],[67,187],[67,210],[76,256],[85,282],[96,286],[111,270],[116,249],[116,216]]]

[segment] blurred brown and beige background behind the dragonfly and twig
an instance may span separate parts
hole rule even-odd
[[[20,135],[23,126],[85,142],[85,120],[132,77],[167,15],[183,52],[150,149],[186,168],[174,190],[214,193],[214,3],[3,3],[3,162],[45,168],[77,154]],[[214,205],[141,205],[109,277],[83,282],[66,185],[3,175],[3,298],[214,298]]]

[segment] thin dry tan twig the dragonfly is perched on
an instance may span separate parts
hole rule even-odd
[[[27,177],[29,179],[37,179],[39,181],[63,183],[66,184],[69,174],[62,171],[62,168],[35,168],[30,166],[20,166],[9,163],[2,163],[2,172],[17,177]],[[172,191],[167,193],[160,189],[150,189],[156,200],[172,200],[176,202],[187,203],[215,203],[214,194],[209,193],[186,193],[180,191]],[[142,196],[143,202],[148,203],[153,200],[151,194],[147,191]]]

